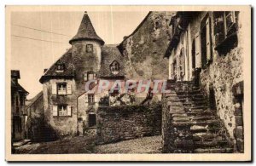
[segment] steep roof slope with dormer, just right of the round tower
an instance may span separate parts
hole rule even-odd
[[[113,75],[110,71],[110,65],[113,60],[119,63],[119,73]],[[125,77],[125,57],[120,53],[117,45],[108,44],[102,47],[102,64],[99,72],[99,77],[101,78],[116,78]]]

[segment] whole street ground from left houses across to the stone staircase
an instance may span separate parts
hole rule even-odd
[[[74,154],[74,153],[160,153],[161,137],[151,136],[95,146],[95,137],[76,136],[62,140],[28,143],[15,147],[15,153]]]

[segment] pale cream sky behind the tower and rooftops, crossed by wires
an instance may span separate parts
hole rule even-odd
[[[88,14],[97,35],[105,44],[114,44],[129,36],[148,12]],[[77,33],[83,15],[83,12],[58,11],[11,14],[11,69],[20,70],[19,83],[29,92],[27,99],[32,99],[43,89],[39,79],[44,69],[71,47],[68,41]]]

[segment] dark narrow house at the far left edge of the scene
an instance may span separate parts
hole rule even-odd
[[[25,109],[28,92],[20,83],[20,71],[11,71],[11,134],[12,141],[26,138],[27,113]]]

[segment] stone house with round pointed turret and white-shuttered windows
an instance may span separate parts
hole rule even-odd
[[[83,135],[96,129],[96,111],[100,105],[131,103],[130,94],[90,93],[85,83],[96,80],[125,82],[125,57],[117,45],[104,45],[85,12],[72,45],[40,78],[44,94],[44,120],[58,135]],[[146,96],[146,94],[144,94]],[[113,102],[111,102],[111,100]],[[115,102],[114,100],[119,100]]]

